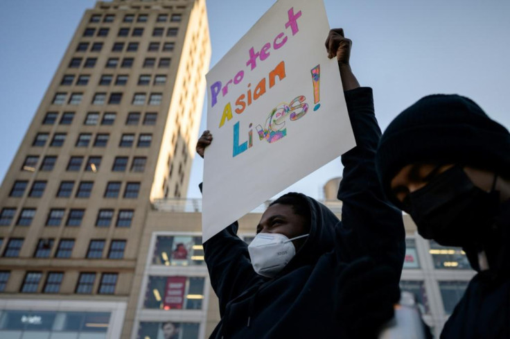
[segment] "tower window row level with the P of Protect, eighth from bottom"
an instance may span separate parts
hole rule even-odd
[[[126,79],[127,80],[127,79]],[[150,80],[150,78],[149,78]],[[166,80],[166,79],[165,79]],[[147,100],[148,97],[148,100]],[[67,101],[67,93],[58,92],[53,97],[53,101],[51,103],[53,105],[64,105],[67,101],[68,105],[80,105],[82,102],[83,94],[82,93],[71,93],[69,96],[69,101]],[[133,94],[133,98],[131,101],[131,105],[143,106],[143,105],[160,105],[161,100],[163,99],[163,94],[161,93],[151,93],[147,96],[146,93],[135,93]],[[122,93],[121,92],[112,92],[109,94],[109,98],[107,100],[107,94],[104,92],[99,92],[94,94],[94,98],[92,98],[92,105],[119,105],[122,101]]]

